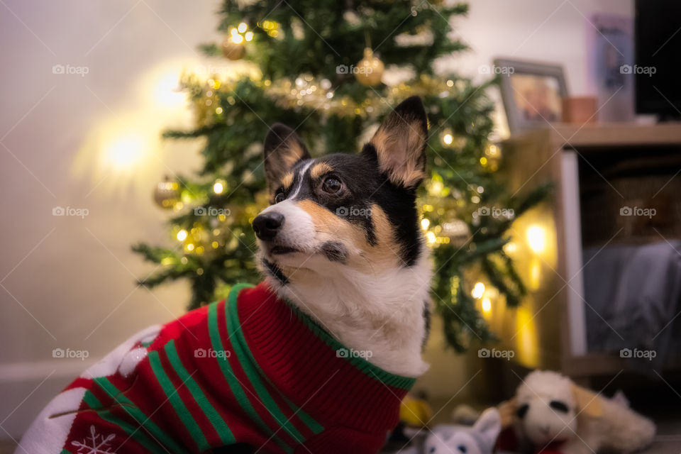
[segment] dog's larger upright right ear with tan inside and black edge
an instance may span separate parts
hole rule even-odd
[[[419,96],[411,96],[384,119],[362,153],[375,154],[391,182],[416,189],[426,176],[427,136],[426,110]]]

